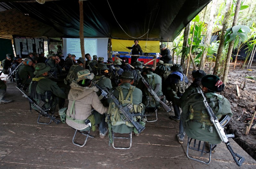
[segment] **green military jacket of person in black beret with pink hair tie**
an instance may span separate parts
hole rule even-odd
[[[208,94],[212,95],[213,93]],[[222,98],[222,100],[220,98]],[[228,99],[218,94],[217,96],[212,96],[212,99],[213,100],[211,102],[210,98],[206,96],[206,100],[209,103],[209,106],[212,108],[213,113],[215,114],[215,116],[217,116],[218,119],[220,119],[223,115],[228,115],[230,117],[233,115]],[[219,100],[222,102],[221,109]],[[221,142],[214,126],[212,124],[208,125],[208,122],[206,122],[206,124],[204,125],[203,123],[205,122],[202,122],[202,119],[209,121],[209,116],[205,109],[203,97],[201,94],[191,94],[188,99],[182,104],[181,109],[183,126],[188,137],[201,141],[206,141],[210,144],[219,144]],[[191,115],[193,115],[193,117]]]

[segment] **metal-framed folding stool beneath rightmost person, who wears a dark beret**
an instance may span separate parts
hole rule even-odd
[[[193,147],[190,147],[189,145],[190,145],[190,143],[192,142],[192,139],[193,139],[193,138],[190,138],[190,139],[189,139],[189,137],[188,137],[187,157],[190,158],[190,159],[192,159],[192,160],[195,160],[195,161],[204,163],[204,164],[209,164],[209,163],[211,162],[211,158],[212,158],[212,150],[213,150],[217,145],[216,145],[216,144],[213,144],[214,146],[212,147],[212,144],[210,144],[210,151],[204,151],[205,143],[206,143],[206,142],[203,143],[203,147],[202,147],[202,149],[200,149],[201,141],[198,140],[198,146],[197,146],[197,148],[196,148],[196,139],[194,139]],[[203,153],[209,153],[208,162],[204,162],[204,161],[202,161],[202,160],[199,160],[199,159],[190,157],[190,156],[188,155],[188,149],[189,149],[189,148],[190,148],[190,149],[193,149],[193,150],[196,150],[196,151],[201,151],[200,157],[203,156]]]

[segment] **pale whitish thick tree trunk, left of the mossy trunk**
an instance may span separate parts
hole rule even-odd
[[[212,27],[213,27],[213,21],[214,21],[214,14],[216,11],[216,6],[217,6],[217,0],[212,0],[212,6],[211,6],[211,13],[210,13],[210,21],[209,24],[207,26],[207,33],[206,33],[206,37],[204,40],[204,51],[200,60],[200,64],[199,64],[199,69],[204,70],[204,62],[205,62],[205,58],[206,58],[206,54],[208,51],[208,46],[210,45],[210,41],[211,41],[211,37],[212,37]]]

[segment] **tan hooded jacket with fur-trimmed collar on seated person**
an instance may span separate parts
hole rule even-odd
[[[96,92],[99,90],[96,86],[81,87],[76,82],[71,83],[71,89],[68,94],[67,116],[71,116],[77,120],[86,120],[92,114],[92,108],[100,114],[107,113],[108,107],[104,107]],[[75,115],[70,115],[72,103],[75,100]],[[88,127],[88,124],[78,124],[73,120],[66,119],[66,123],[75,129],[82,130]]]

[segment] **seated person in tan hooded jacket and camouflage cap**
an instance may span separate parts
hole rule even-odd
[[[92,86],[94,74],[85,69],[79,71],[77,76],[77,81],[72,81],[70,85],[66,123],[74,129],[88,131],[91,127],[85,124],[85,120],[89,119],[93,131],[96,130],[95,125],[99,124],[100,138],[104,138],[108,133],[108,128],[106,128],[103,115],[108,112],[108,107],[104,107],[100,102],[96,94],[99,89]],[[92,108],[96,111],[92,112]]]

